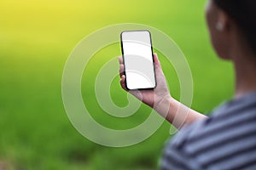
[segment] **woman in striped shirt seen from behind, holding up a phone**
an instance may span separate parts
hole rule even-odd
[[[256,1],[209,0],[206,15],[213,48],[235,65],[234,99],[209,117],[190,110],[170,95],[156,54],[157,88],[130,93],[180,129],[166,144],[162,169],[256,169]]]

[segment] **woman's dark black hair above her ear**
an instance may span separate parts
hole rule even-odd
[[[256,54],[256,0],[213,0],[240,27]]]

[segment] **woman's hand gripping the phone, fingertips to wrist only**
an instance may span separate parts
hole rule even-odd
[[[160,61],[157,54],[154,54],[154,69],[157,86],[152,90],[128,90],[125,87],[125,75],[124,75],[124,62],[122,57],[119,57],[119,75],[120,84],[125,91],[134,95],[137,99],[143,101],[144,104],[149,105],[152,108],[157,107],[163,99],[172,99],[169,90],[166,85],[166,77],[161,69]]]

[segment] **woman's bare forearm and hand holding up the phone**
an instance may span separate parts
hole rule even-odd
[[[125,75],[123,59],[119,58],[119,75],[121,77],[120,84],[127,92],[134,95],[137,99],[143,101],[144,104],[154,108],[161,116],[171,122],[174,127],[180,129],[183,125],[188,125],[197,119],[207,118],[189,107],[181,104],[173,99],[166,86],[166,77],[161,69],[160,61],[157,54],[154,54],[154,68],[157,87],[154,90],[128,91],[125,88]]]

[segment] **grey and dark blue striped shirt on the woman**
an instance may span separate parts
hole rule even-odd
[[[231,100],[166,144],[161,169],[256,169],[256,93]]]

